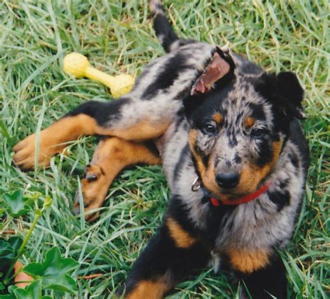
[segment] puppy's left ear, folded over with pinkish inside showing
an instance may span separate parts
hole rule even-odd
[[[219,81],[224,76],[233,73],[235,63],[230,55],[228,46],[215,47],[212,50],[212,59],[205,68],[203,74],[194,83],[191,88],[190,95],[195,95],[197,92],[205,93],[211,89],[213,84]]]

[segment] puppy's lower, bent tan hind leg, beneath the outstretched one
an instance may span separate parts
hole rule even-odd
[[[97,145],[91,164],[86,167],[86,176],[81,181],[85,211],[101,207],[113,179],[123,168],[136,163],[155,165],[162,161],[143,143],[117,137],[102,139]],[[79,209],[77,200],[74,209]],[[98,212],[88,213],[86,220],[93,221],[97,216]]]

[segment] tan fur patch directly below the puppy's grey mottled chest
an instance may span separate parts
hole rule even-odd
[[[231,250],[228,256],[231,266],[243,273],[252,273],[269,263],[267,250]]]

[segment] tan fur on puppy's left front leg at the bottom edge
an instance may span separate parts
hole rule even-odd
[[[161,258],[161,257],[159,257]],[[141,280],[125,299],[160,299],[173,288],[173,284],[166,282],[164,277],[158,280]]]

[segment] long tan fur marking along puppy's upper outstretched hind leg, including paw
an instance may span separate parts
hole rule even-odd
[[[161,136],[166,131],[169,122],[155,124],[143,120],[134,126],[122,129],[101,127],[95,118],[86,114],[68,116],[54,122],[50,127],[40,132],[40,147],[38,165],[48,166],[50,158],[63,151],[68,141],[76,140],[81,135],[117,136],[126,140],[148,140]],[[33,168],[35,161],[36,134],[28,136],[15,145],[14,162],[23,170]]]

